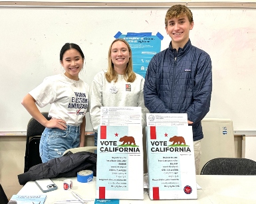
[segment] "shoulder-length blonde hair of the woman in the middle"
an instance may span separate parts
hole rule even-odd
[[[134,73],[134,71],[132,70],[132,49],[130,48],[130,45],[128,44],[128,42],[126,42],[126,40],[122,39],[122,38],[116,38],[116,40],[114,40],[108,50],[108,71],[105,73],[106,76],[106,80],[108,82],[114,81],[116,82],[118,79],[118,75],[116,74],[116,72],[114,71],[114,64],[111,60],[111,48],[112,45],[114,44],[114,42],[117,41],[122,41],[126,44],[126,46],[128,47],[128,51],[130,53],[130,59],[129,62],[127,63],[126,66],[126,74],[124,74],[124,80],[126,80],[127,82],[134,82],[134,80],[136,79],[136,74]]]

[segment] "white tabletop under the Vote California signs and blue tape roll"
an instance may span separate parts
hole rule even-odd
[[[256,176],[196,176],[198,185],[197,199],[195,200],[160,200],[152,201],[147,194],[144,200],[120,200],[120,204],[136,203],[256,203]],[[70,191],[63,189],[64,178],[53,179],[58,189],[47,193],[45,203],[55,203],[62,199],[74,199]],[[72,178],[73,191],[82,196],[83,199],[92,199],[89,204],[94,203],[96,197],[96,181],[80,183]],[[38,195],[43,192],[37,187],[35,181],[29,181],[19,191],[19,195]]]

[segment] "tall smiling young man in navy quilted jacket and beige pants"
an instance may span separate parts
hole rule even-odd
[[[187,113],[193,128],[195,171],[199,174],[201,119],[209,111],[212,89],[211,58],[192,46],[193,15],[184,5],[174,5],[166,13],[169,48],[156,54],[146,73],[145,106],[150,113]]]

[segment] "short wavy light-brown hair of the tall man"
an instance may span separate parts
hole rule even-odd
[[[184,5],[174,5],[166,12],[165,24],[167,26],[168,20],[179,18],[186,15],[190,24],[193,22],[193,14],[190,9]]]

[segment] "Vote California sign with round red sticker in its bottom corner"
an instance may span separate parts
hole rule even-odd
[[[192,127],[146,127],[150,199],[197,199]]]

